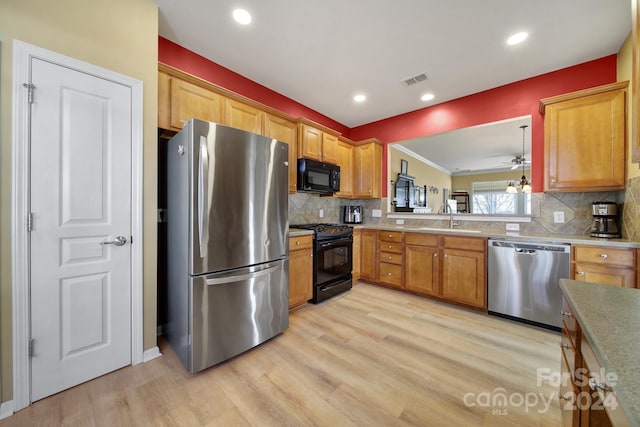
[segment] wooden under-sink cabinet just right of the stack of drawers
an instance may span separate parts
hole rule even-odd
[[[405,233],[404,287],[422,295],[440,295],[438,236]]]

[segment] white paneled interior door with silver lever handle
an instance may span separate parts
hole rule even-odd
[[[35,401],[131,363],[132,94],[38,58],[31,71]]]

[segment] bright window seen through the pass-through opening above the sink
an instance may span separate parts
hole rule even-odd
[[[507,181],[473,183],[472,213],[530,215],[531,193],[507,193]]]

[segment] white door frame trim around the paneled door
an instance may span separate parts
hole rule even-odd
[[[11,267],[13,317],[13,406],[14,410],[31,404],[31,369],[29,361],[29,103],[24,83],[31,81],[31,58],[38,58],[131,88],[131,363],[143,361],[142,296],[142,81],[79,61],[18,40],[13,42],[13,127],[11,205]],[[34,97],[38,88],[34,89]]]

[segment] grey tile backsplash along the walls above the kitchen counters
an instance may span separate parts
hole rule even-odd
[[[535,193],[531,200],[531,222],[520,223],[523,234],[566,234],[580,235],[590,232],[593,217],[591,204],[595,201],[613,201],[618,203],[622,212],[622,235],[624,238],[640,240],[640,178],[629,180],[627,190],[584,193]],[[344,205],[362,205],[364,224],[395,225],[394,218],[387,218],[387,200],[349,200],[333,197],[320,197],[317,194],[299,193],[289,196],[290,224],[315,222],[339,223],[340,207]],[[380,209],[382,217],[372,217],[372,210]],[[323,216],[320,216],[322,211]],[[554,212],[563,212],[564,223],[554,222]],[[482,229],[485,231],[504,231],[504,222],[495,221],[459,221],[461,228]],[[405,219],[405,225],[446,227],[446,220]]]

